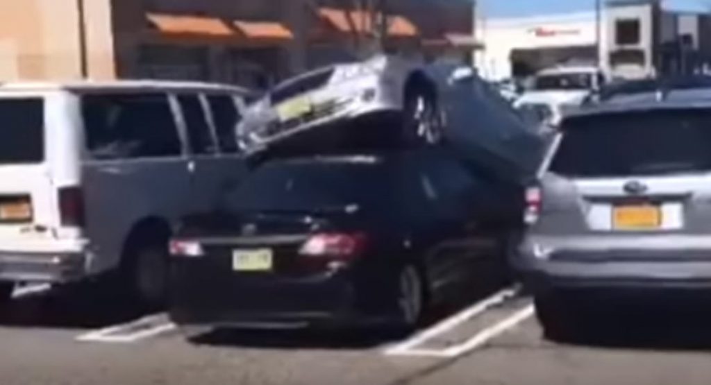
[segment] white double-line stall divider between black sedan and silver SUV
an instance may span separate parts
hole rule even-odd
[[[497,317],[493,322],[477,328],[473,334],[454,344],[442,348],[432,348],[427,347],[427,342],[434,342],[437,337],[442,337],[449,332],[458,330],[459,327],[468,325],[467,322],[474,322],[479,318],[486,320],[487,316],[491,317],[491,315],[487,314],[492,313],[494,308],[509,302],[515,302],[514,300],[519,293],[520,289],[516,287],[499,291],[479,303],[475,303],[469,308],[451,315],[451,317],[440,321],[436,325],[422,330],[403,342],[385,347],[382,352],[388,356],[451,358],[479,349],[504,332],[531,318],[535,314],[533,305],[528,303],[524,303],[523,307],[518,305],[513,310],[507,309],[503,311],[501,316],[498,316],[498,311],[501,311],[498,310],[494,313]],[[471,326],[469,325],[469,327]]]

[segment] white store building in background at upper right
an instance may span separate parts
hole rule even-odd
[[[609,77],[700,72],[711,63],[711,16],[664,9],[658,0],[611,0],[603,9],[479,21],[475,65],[493,80],[567,63]]]

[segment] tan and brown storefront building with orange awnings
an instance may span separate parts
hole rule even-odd
[[[0,80],[164,78],[265,87],[355,58],[346,0],[0,0]],[[392,1],[387,49],[466,54],[469,1]],[[437,42],[437,44],[431,44]],[[459,50],[459,51],[457,51]]]

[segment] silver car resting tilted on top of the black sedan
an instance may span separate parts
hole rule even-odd
[[[252,104],[238,131],[250,154],[446,146],[510,180],[533,175],[542,155],[537,127],[473,68],[392,56],[287,80]]]

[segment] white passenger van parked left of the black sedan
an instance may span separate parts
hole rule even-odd
[[[102,273],[159,303],[174,219],[245,173],[247,92],[203,83],[0,86],[0,299]]]

